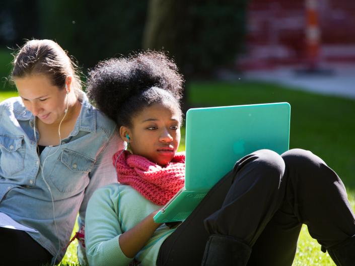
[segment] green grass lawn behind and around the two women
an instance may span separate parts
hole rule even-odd
[[[289,102],[291,104],[290,149],[313,151],[342,178],[351,206],[355,204],[355,101],[322,96],[282,86],[253,82],[192,82],[188,84],[190,106],[222,106],[253,103]],[[14,92],[0,88],[0,100]],[[183,131],[184,135],[184,131]],[[182,144],[184,139],[182,140]],[[184,146],[180,148],[184,149]],[[77,265],[77,241],[68,248],[62,265]],[[303,226],[294,266],[335,265]]]

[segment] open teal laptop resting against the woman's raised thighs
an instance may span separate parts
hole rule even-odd
[[[289,103],[192,108],[186,113],[185,186],[154,216],[184,221],[209,189],[254,151],[289,150]]]

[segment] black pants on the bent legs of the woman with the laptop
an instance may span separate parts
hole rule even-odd
[[[239,160],[164,241],[157,265],[200,265],[210,234],[251,246],[250,266],[292,265],[302,224],[324,248],[355,235],[343,183],[309,151],[256,151]]]

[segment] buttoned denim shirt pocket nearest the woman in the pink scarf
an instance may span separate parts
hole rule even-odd
[[[64,149],[50,179],[60,192],[81,191],[89,183],[88,173],[93,169],[94,163],[94,159],[84,154]]]

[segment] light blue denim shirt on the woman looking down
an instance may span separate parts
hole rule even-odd
[[[84,224],[94,190],[117,182],[112,155],[123,147],[115,123],[95,109],[85,93],[79,93],[79,100],[82,108],[74,130],[46,160],[57,147],[46,147],[38,157],[34,117],[20,97],[0,104],[0,212],[37,229],[39,233],[27,233],[53,257],[58,252],[57,261],[64,256],[78,212],[79,228]],[[38,140],[38,131],[36,135]]]

